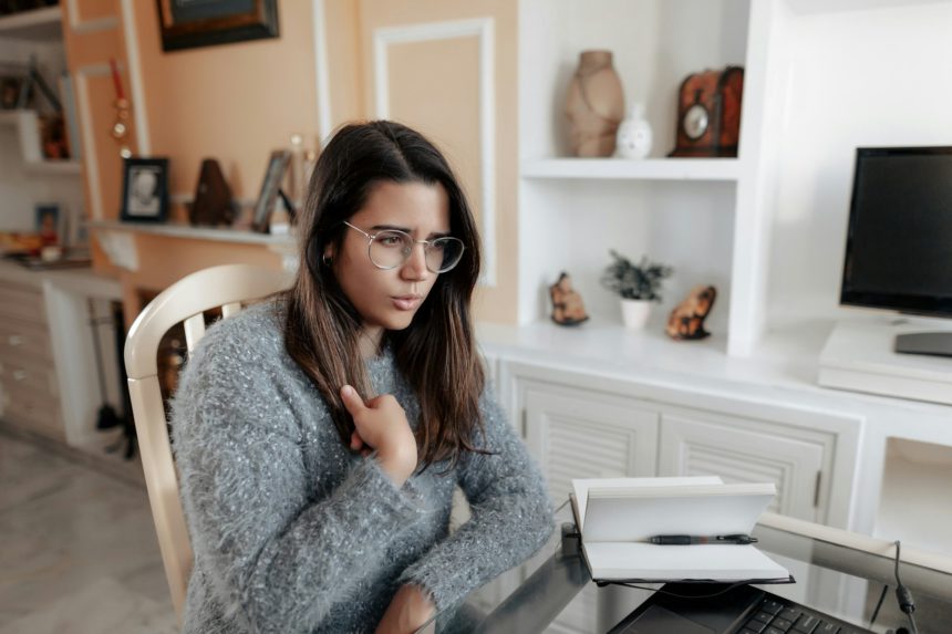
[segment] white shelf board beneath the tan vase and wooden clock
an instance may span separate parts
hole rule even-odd
[[[737,180],[736,158],[542,158],[522,163],[524,178]]]

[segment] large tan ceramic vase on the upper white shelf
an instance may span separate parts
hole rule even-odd
[[[614,154],[624,117],[624,94],[611,51],[582,51],[566,95],[571,153],[579,157]]]

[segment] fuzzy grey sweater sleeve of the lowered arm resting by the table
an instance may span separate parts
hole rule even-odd
[[[466,453],[457,472],[470,518],[401,575],[437,610],[531,557],[555,526],[542,475],[488,388],[480,412],[486,434],[476,433],[476,446],[491,454]]]

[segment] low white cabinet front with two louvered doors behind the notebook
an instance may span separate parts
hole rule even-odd
[[[672,388],[499,356],[500,392],[539,461],[552,500],[573,478],[720,476],[774,482],[770,510],[849,528],[862,419],[808,408],[795,395]]]

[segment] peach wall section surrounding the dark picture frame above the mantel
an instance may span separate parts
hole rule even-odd
[[[217,158],[238,199],[253,200],[268,155],[293,133],[318,134],[311,2],[278,2],[280,37],[164,53],[155,2],[134,3],[154,156],[169,191],[194,195],[201,159]]]

